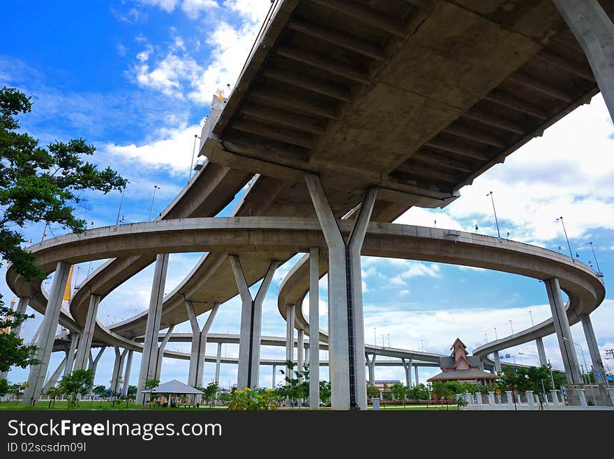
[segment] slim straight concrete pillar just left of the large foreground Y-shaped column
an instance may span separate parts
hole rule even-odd
[[[320,249],[309,249],[309,408],[320,407]]]

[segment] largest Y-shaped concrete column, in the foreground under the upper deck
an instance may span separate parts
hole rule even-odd
[[[331,406],[366,410],[364,320],[360,251],[373,212],[376,189],[369,189],[345,244],[320,178],[306,174],[313,207],[329,251],[329,373]]]

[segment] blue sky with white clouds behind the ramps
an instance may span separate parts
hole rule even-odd
[[[163,210],[184,187],[190,171],[194,134],[209,113],[218,88],[234,84],[269,8],[269,0],[115,0],[19,1],[0,3],[0,85],[15,86],[32,96],[33,112],[22,127],[42,143],[83,137],[93,143],[93,158],[110,165],[130,180],[121,215],[126,222],[144,221],[149,214],[153,186],[158,185],[153,215]],[[614,348],[614,127],[603,99],[574,111],[544,137],[534,139],[505,162],[461,189],[461,198],[444,210],[412,209],[401,223],[458,228],[496,235],[488,192],[494,192],[502,235],[568,253],[560,222],[564,216],[574,254],[594,264],[586,242],[592,241],[606,275],[606,301],[592,315],[602,350]],[[77,209],[94,226],[114,224],[119,193],[84,194]],[[436,224],[435,224],[436,221]],[[42,226],[25,228],[38,241]],[[50,228],[48,236],[61,234]],[[561,247],[561,249],[559,249]],[[183,279],[200,254],[176,254],[170,260],[167,292]],[[91,268],[98,263],[92,263]],[[79,268],[79,269],[77,269]],[[75,268],[76,281],[89,265]],[[264,304],[264,334],[285,334],[278,315],[276,292],[290,263],[280,268]],[[447,353],[456,336],[470,350],[526,328],[549,316],[544,286],[512,274],[410,260],[363,259],[366,342],[399,348]],[[102,322],[110,324],[147,309],[151,267],[137,274],[103,300]],[[73,279],[75,281],[75,279]],[[13,296],[3,279],[0,293]],[[325,299],[325,283],[322,297]],[[531,313],[529,313],[531,311]],[[31,336],[40,317],[25,329]],[[322,320],[326,304],[322,301]],[[211,332],[237,333],[239,302],[220,308]],[[200,320],[205,320],[201,317]],[[511,323],[509,322],[511,320]],[[188,324],[176,327],[188,332]],[[587,352],[581,325],[572,327],[574,341]],[[375,334],[375,338],[374,338]],[[383,336],[382,336],[383,335]],[[546,352],[561,368],[554,336],[545,340]],[[189,350],[189,345],[170,348]],[[214,355],[210,344],[208,354]],[[579,348],[578,348],[579,351]],[[226,355],[237,355],[228,345]],[[534,363],[534,343],[505,351],[523,363]],[[603,353],[602,353],[603,354]],[[113,363],[107,350],[98,366],[96,382],[107,384]],[[283,358],[283,348],[264,348],[262,357]],[[323,355],[324,357],[324,355]],[[583,364],[582,353],[578,358]],[[59,363],[52,357],[50,369]],[[140,355],[135,355],[131,380],[136,382]],[[614,370],[613,361],[605,361]],[[162,379],[186,380],[187,361],[165,359]],[[436,373],[420,372],[421,380]],[[204,380],[213,378],[213,364],[205,365]],[[327,377],[324,371],[324,378]],[[400,368],[378,368],[377,379],[403,380]],[[16,369],[10,380],[22,381]],[[223,385],[236,380],[236,367],[223,366]],[[280,377],[278,377],[278,381]],[[270,368],[262,368],[262,384],[271,383]]]

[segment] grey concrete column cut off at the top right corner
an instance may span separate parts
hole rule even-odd
[[[614,120],[614,24],[597,0],[553,0],[590,63]]]

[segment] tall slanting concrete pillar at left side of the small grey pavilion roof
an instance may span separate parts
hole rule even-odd
[[[153,283],[151,284],[151,297],[149,299],[149,314],[143,342],[143,355],[139,371],[139,384],[136,403],[144,403],[144,388],[147,380],[156,379],[156,366],[158,366],[158,332],[160,332],[160,316],[164,299],[164,286],[168,270],[168,254],[158,254],[156,267],[153,270]]]

